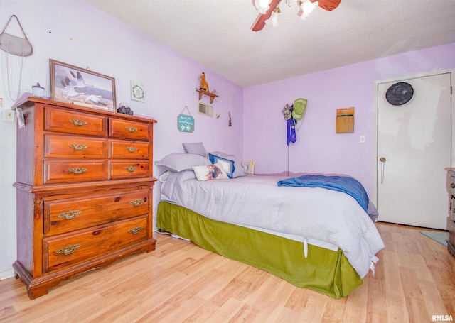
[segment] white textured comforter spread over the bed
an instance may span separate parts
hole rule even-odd
[[[297,234],[333,243],[360,278],[384,248],[378,230],[358,202],[317,187],[279,187],[286,177],[254,176],[198,181],[192,170],[168,175],[161,193],[210,219]]]

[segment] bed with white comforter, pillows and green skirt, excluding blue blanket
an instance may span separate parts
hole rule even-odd
[[[361,205],[340,190],[288,185],[282,176],[236,175],[234,156],[210,158],[178,167],[157,163],[167,170],[160,176],[159,231],[336,299],[374,274],[384,243],[370,201]],[[223,159],[232,162],[231,172]],[[213,178],[214,167],[220,178]]]

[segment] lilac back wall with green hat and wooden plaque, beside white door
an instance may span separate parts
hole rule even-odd
[[[351,175],[371,195],[375,80],[454,67],[455,43],[244,89],[243,158],[255,160],[255,173]],[[288,151],[281,110],[299,97],[308,105]],[[336,109],[350,106],[355,107],[354,133],[335,133]],[[366,142],[360,143],[363,135]]]

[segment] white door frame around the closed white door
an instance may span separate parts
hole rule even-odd
[[[385,80],[375,80],[373,82],[373,203],[378,207],[378,86],[382,83],[400,82],[402,80],[416,79],[419,77],[427,77],[432,75],[451,73],[450,86],[450,109],[451,109],[451,165],[447,167],[455,167],[455,102],[454,102],[454,84],[455,84],[455,68],[446,70],[437,70],[432,72],[419,73],[414,75],[404,75],[400,77],[392,77]]]

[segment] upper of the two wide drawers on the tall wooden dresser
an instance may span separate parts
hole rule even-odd
[[[44,235],[148,214],[149,204],[149,189],[44,202]]]

